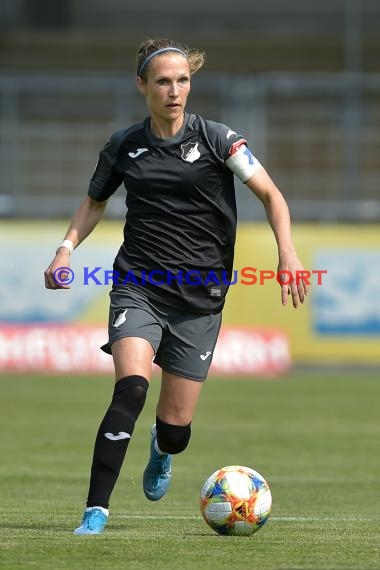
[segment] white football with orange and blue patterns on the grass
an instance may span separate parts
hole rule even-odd
[[[268,483],[249,467],[222,467],[201,490],[202,516],[218,534],[250,536],[266,523],[271,506]]]

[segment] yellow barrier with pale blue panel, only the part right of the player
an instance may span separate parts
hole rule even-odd
[[[297,310],[291,307],[290,299],[288,306],[282,307],[280,288],[273,280],[263,286],[235,285],[229,291],[225,321],[229,324],[276,326],[287,331],[295,361],[380,363],[378,228],[300,224],[293,228],[293,240],[306,269],[327,269],[327,275],[322,275],[322,285],[317,285],[317,276],[314,275],[311,295]],[[276,271],[277,248],[268,226],[241,224],[236,245],[236,268],[253,266]],[[342,260],[345,264],[340,267]],[[365,263],[361,264],[360,260]],[[355,281],[356,288],[350,289],[351,281]],[[328,292],[327,307],[323,308],[327,318],[328,311],[334,311],[334,302],[335,305],[341,302],[340,320],[350,323],[349,316],[345,319],[345,313],[354,309],[354,319],[358,323],[361,318],[364,320],[362,327],[358,325],[355,331],[352,330],[355,327],[347,326],[351,330],[336,330],[331,334],[316,330],[318,312],[322,312],[322,302],[318,303],[318,299],[324,291]],[[366,330],[367,315],[373,314],[376,308],[375,326],[368,326]],[[338,328],[337,325],[335,329]],[[344,323],[341,328],[344,329]]]

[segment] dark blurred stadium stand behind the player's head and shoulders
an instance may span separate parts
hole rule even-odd
[[[188,110],[247,137],[294,219],[379,221],[379,24],[378,0],[2,0],[0,215],[71,215],[109,134],[146,114],[137,45],[169,36],[207,53]]]

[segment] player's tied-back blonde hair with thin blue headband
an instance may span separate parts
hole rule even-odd
[[[149,38],[143,42],[137,51],[137,75],[141,79],[146,79],[146,73],[149,66],[149,61],[155,51],[167,50],[180,52],[186,57],[189,62],[190,74],[196,73],[205,62],[205,53],[197,49],[190,49],[187,46],[180,44],[175,40],[169,40],[166,38]],[[157,54],[158,55],[158,54]]]

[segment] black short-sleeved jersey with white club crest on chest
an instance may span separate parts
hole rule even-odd
[[[193,114],[168,139],[152,134],[149,117],[112,135],[88,194],[103,201],[123,182],[127,190],[118,284],[188,311],[222,309],[236,234],[234,175],[225,161],[243,142],[226,125]]]

